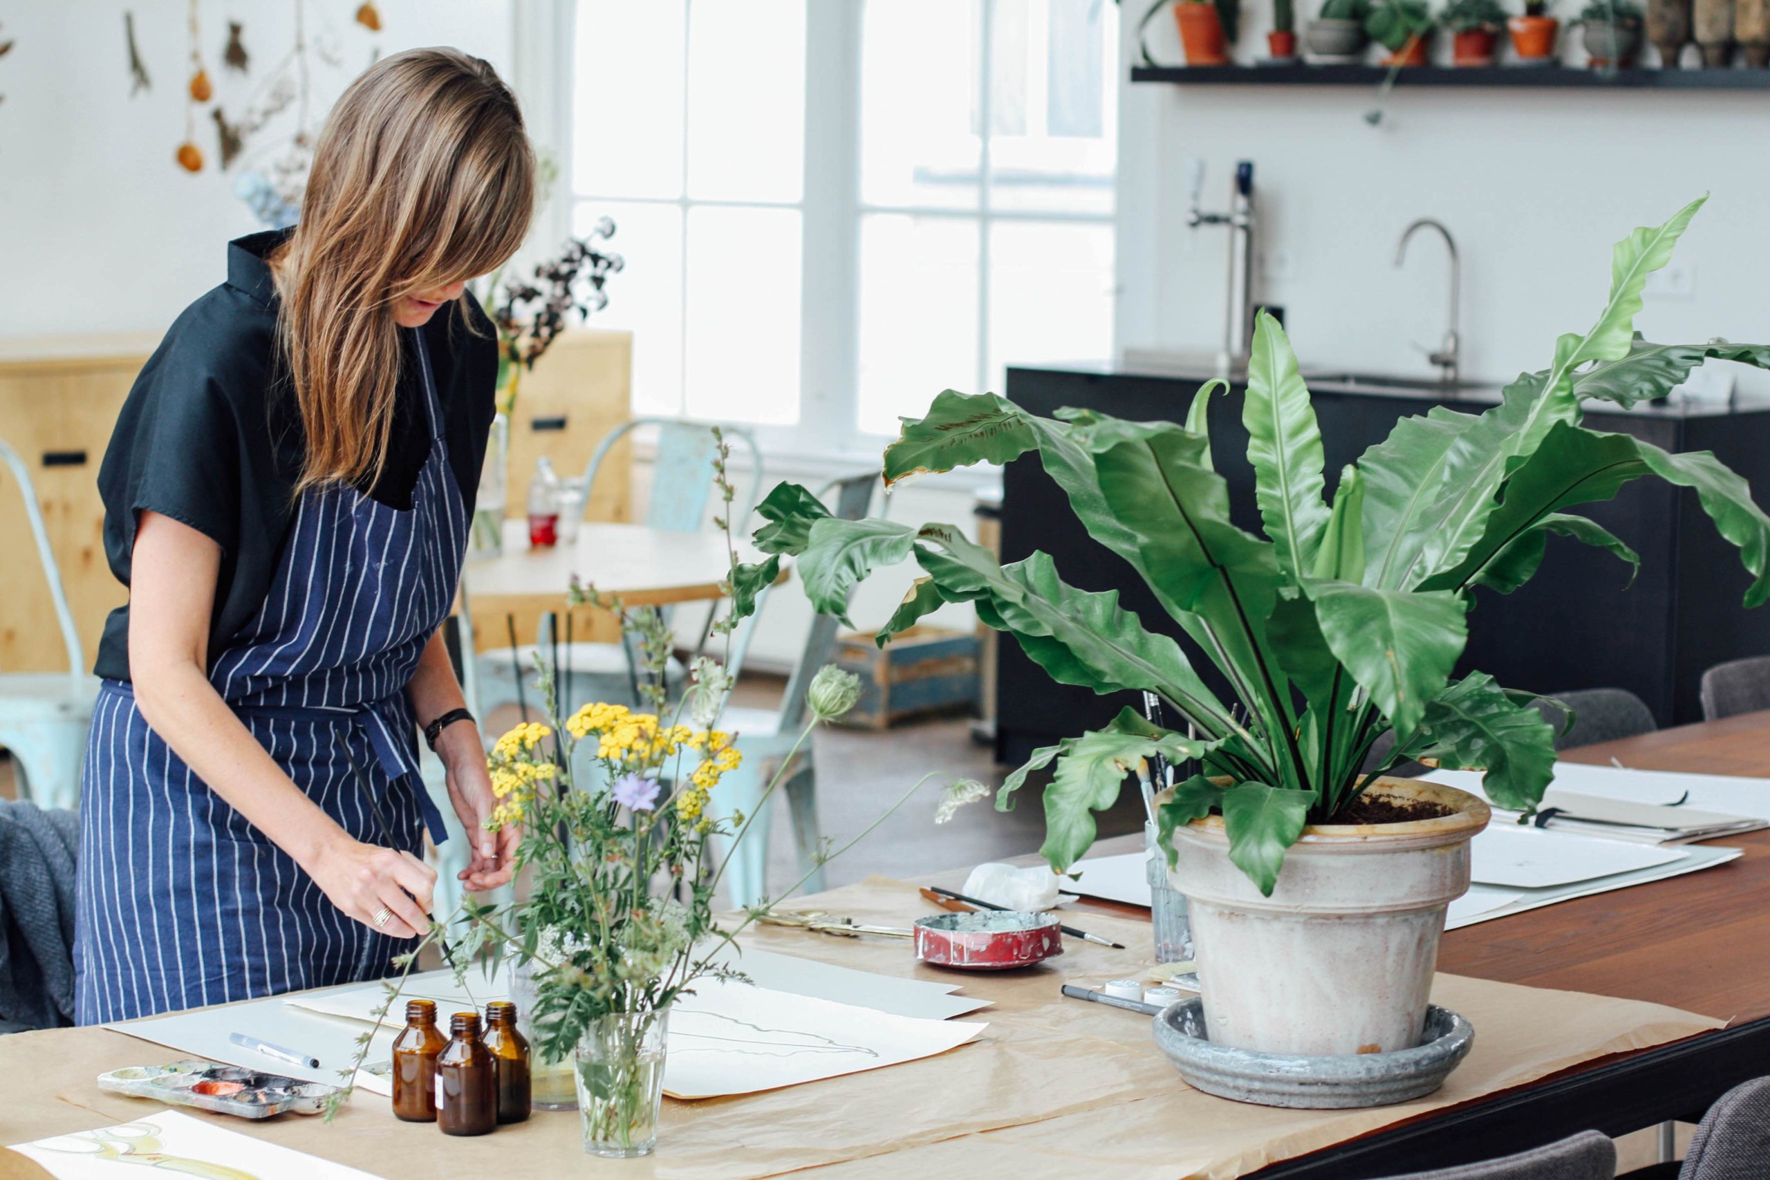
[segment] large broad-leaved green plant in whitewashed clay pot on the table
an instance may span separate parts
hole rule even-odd
[[[1273,1053],[1412,1047],[1421,1033],[1444,908],[1467,888],[1474,796],[1384,773],[1407,759],[1483,768],[1483,791],[1533,810],[1554,764],[1554,729],[1490,676],[1451,678],[1474,587],[1517,589],[1549,534],[1637,557],[1566,510],[1611,499],[1639,476],[1694,488],[1770,598],[1770,517],[1708,453],[1673,455],[1581,425],[1581,405],[1664,396],[1705,357],[1770,366],[1761,345],[1650,345],[1632,333],[1648,274],[1696,202],[1612,253],[1611,297],[1586,333],[1561,336],[1549,368],[1513,380],[1499,405],[1435,407],[1340,472],[1328,497],[1324,444],[1283,329],[1258,318],[1243,425],[1266,536],[1230,520],[1207,435],[1221,382],[1184,425],[1094,410],[1034,416],[995,395],[947,391],[904,419],[885,479],[1035,451],[1090,536],[1149,584],[1186,647],[1143,626],[1119,593],[1062,580],[1034,552],[998,564],[956,527],[835,520],[804,488],[768,495],[766,552],[798,554],[818,610],[844,616],[874,568],[915,559],[922,575],[878,642],[942,603],[972,603],[1053,679],[1158,697],[1174,727],[1124,709],[1104,729],[1034,752],[997,807],[1050,768],[1041,853],[1067,870],[1094,842],[1094,814],[1158,755],[1198,771],[1161,793],[1159,835],[1191,904],[1212,1042]],[[1193,669],[1209,658],[1220,697]],[[1379,738],[1389,752],[1370,766]]]

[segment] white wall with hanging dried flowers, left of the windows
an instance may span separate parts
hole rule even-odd
[[[306,0],[310,35],[329,34],[338,46],[338,65],[313,64],[315,117],[377,44],[382,55],[451,44],[508,78],[513,2],[379,0],[382,32],[372,34],[350,19],[358,0]],[[152,78],[152,90],[135,97],[124,9],[135,12]],[[244,23],[244,78],[221,64],[228,18]],[[9,4],[0,19],[0,35],[16,42],[0,58],[0,338],[165,331],[227,276],[228,239],[260,228],[234,196],[241,163],[228,173],[216,168],[207,110],[195,136],[205,170],[191,175],[173,163],[189,76],[186,4]],[[200,21],[216,97],[237,117],[294,44],[294,5],[202,0]],[[292,126],[292,113],[280,115],[260,143]]]

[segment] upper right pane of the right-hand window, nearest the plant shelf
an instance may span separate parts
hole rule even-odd
[[[995,0],[991,42],[989,207],[1110,214],[1119,7]]]

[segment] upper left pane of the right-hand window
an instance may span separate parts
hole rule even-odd
[[[869,0],[860,41],[860,198],[975,207],[979,0]]]

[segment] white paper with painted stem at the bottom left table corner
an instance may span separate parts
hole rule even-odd
[[[242,1136],[177,1111],[12,1148],[57,1180],[131,1180],[177,1173],[214,1180],[375,1180],[319,1155]],[[207,1168],[205,1168],[207,1166]]]

